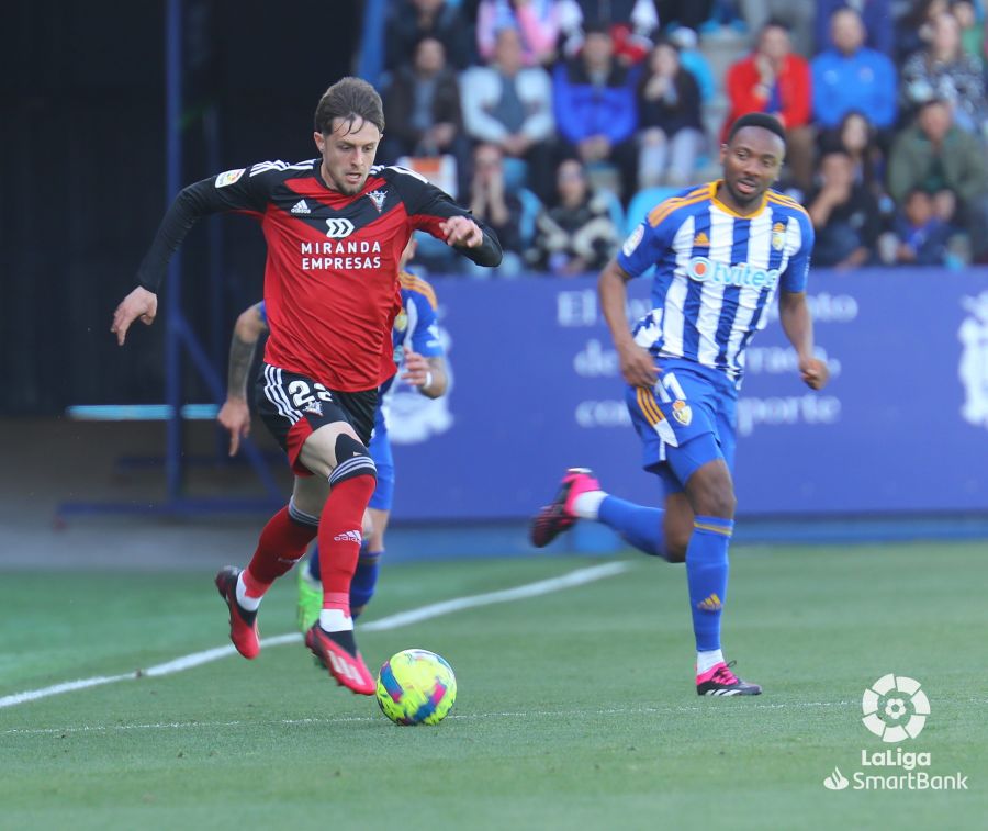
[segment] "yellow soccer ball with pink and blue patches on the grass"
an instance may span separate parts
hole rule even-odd
[[[406,649],[381,666],[377,697],[395,725],[438,725],[457,700],[457,676],[435,652]]]

